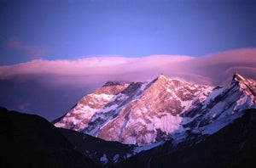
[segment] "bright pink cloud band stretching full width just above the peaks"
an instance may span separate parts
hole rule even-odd
[[[31,74],[55,84],[91,85],[113,81],[150,81],[163,73],[207,85],[230,82],[236,70],[256,80],[256,48],[214,53],[201,58],[154,55],[144,58],[100,57],[77,60],[33,60],[0,67],[0,79]],[[47,77],[51,76],[51,77]]]

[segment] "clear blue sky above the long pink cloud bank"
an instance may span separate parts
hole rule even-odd
[[[247,0],[0,0],[0,65],[256,47]]]

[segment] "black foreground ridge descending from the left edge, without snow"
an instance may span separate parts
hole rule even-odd
[[[96,167],[38,115],[0,108],[0,167]]]

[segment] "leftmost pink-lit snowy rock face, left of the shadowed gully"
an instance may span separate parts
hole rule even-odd
[[[114,95],[123,91],[128,84],[123,82],[107,82],[96,92],[84,96],[63,118],[58,119],[55,126],[80,131],[88,126],[91,118],[97,111],[104,109]]]

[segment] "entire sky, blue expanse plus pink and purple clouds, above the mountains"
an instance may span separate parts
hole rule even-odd
[[[108,80],[256,76],[253,0],[0,0],[0,106],[54,120]],[[22,64],[20,64],[22,63]]]

